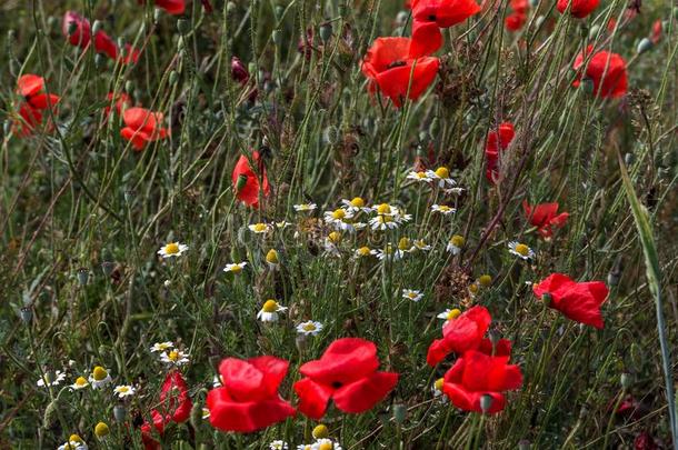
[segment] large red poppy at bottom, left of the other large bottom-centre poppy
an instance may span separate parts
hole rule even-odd
[[[222,360],[219,373],[223,386],[207,394],[212,427],[252,432],[295,416],[295,408],[278,394],[288,366],[275,357]]]

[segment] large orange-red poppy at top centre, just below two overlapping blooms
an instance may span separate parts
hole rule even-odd
[[[440,67],[438,58],[422,57],[419,51],[420,47],[412,46],[409,38],[377,38],[362,61],[370,90],[379,88],[398,108],[406,97],[418,99]]]

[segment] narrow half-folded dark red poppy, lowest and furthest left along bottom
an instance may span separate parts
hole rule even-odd
[[[193,403],[188,394],[188,384],[181,372],[175,370],[169,372],[160,390],[160,402],[158,409],[151,410],[152,426],[162,436],[164,426],[169,422],[186,422],[190,414]],[[152,438],[151,424],[144,422],[141,426],[141,440],[147,450],[159,449],[160,444]]]

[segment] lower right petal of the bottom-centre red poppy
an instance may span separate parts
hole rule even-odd
[[[383,400],[397,383],[398,373],[375,372],[337,389],[332,399],[339,410],[359,413]]]

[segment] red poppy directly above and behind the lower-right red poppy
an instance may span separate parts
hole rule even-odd
[[[436,339],[428,348],[426,362],[433,367],[452,352],[461,354],[467,350],[477,349],[491,321],[492,318],[487,308],[480,306],[448,321],[442,327],[442,339]]]

